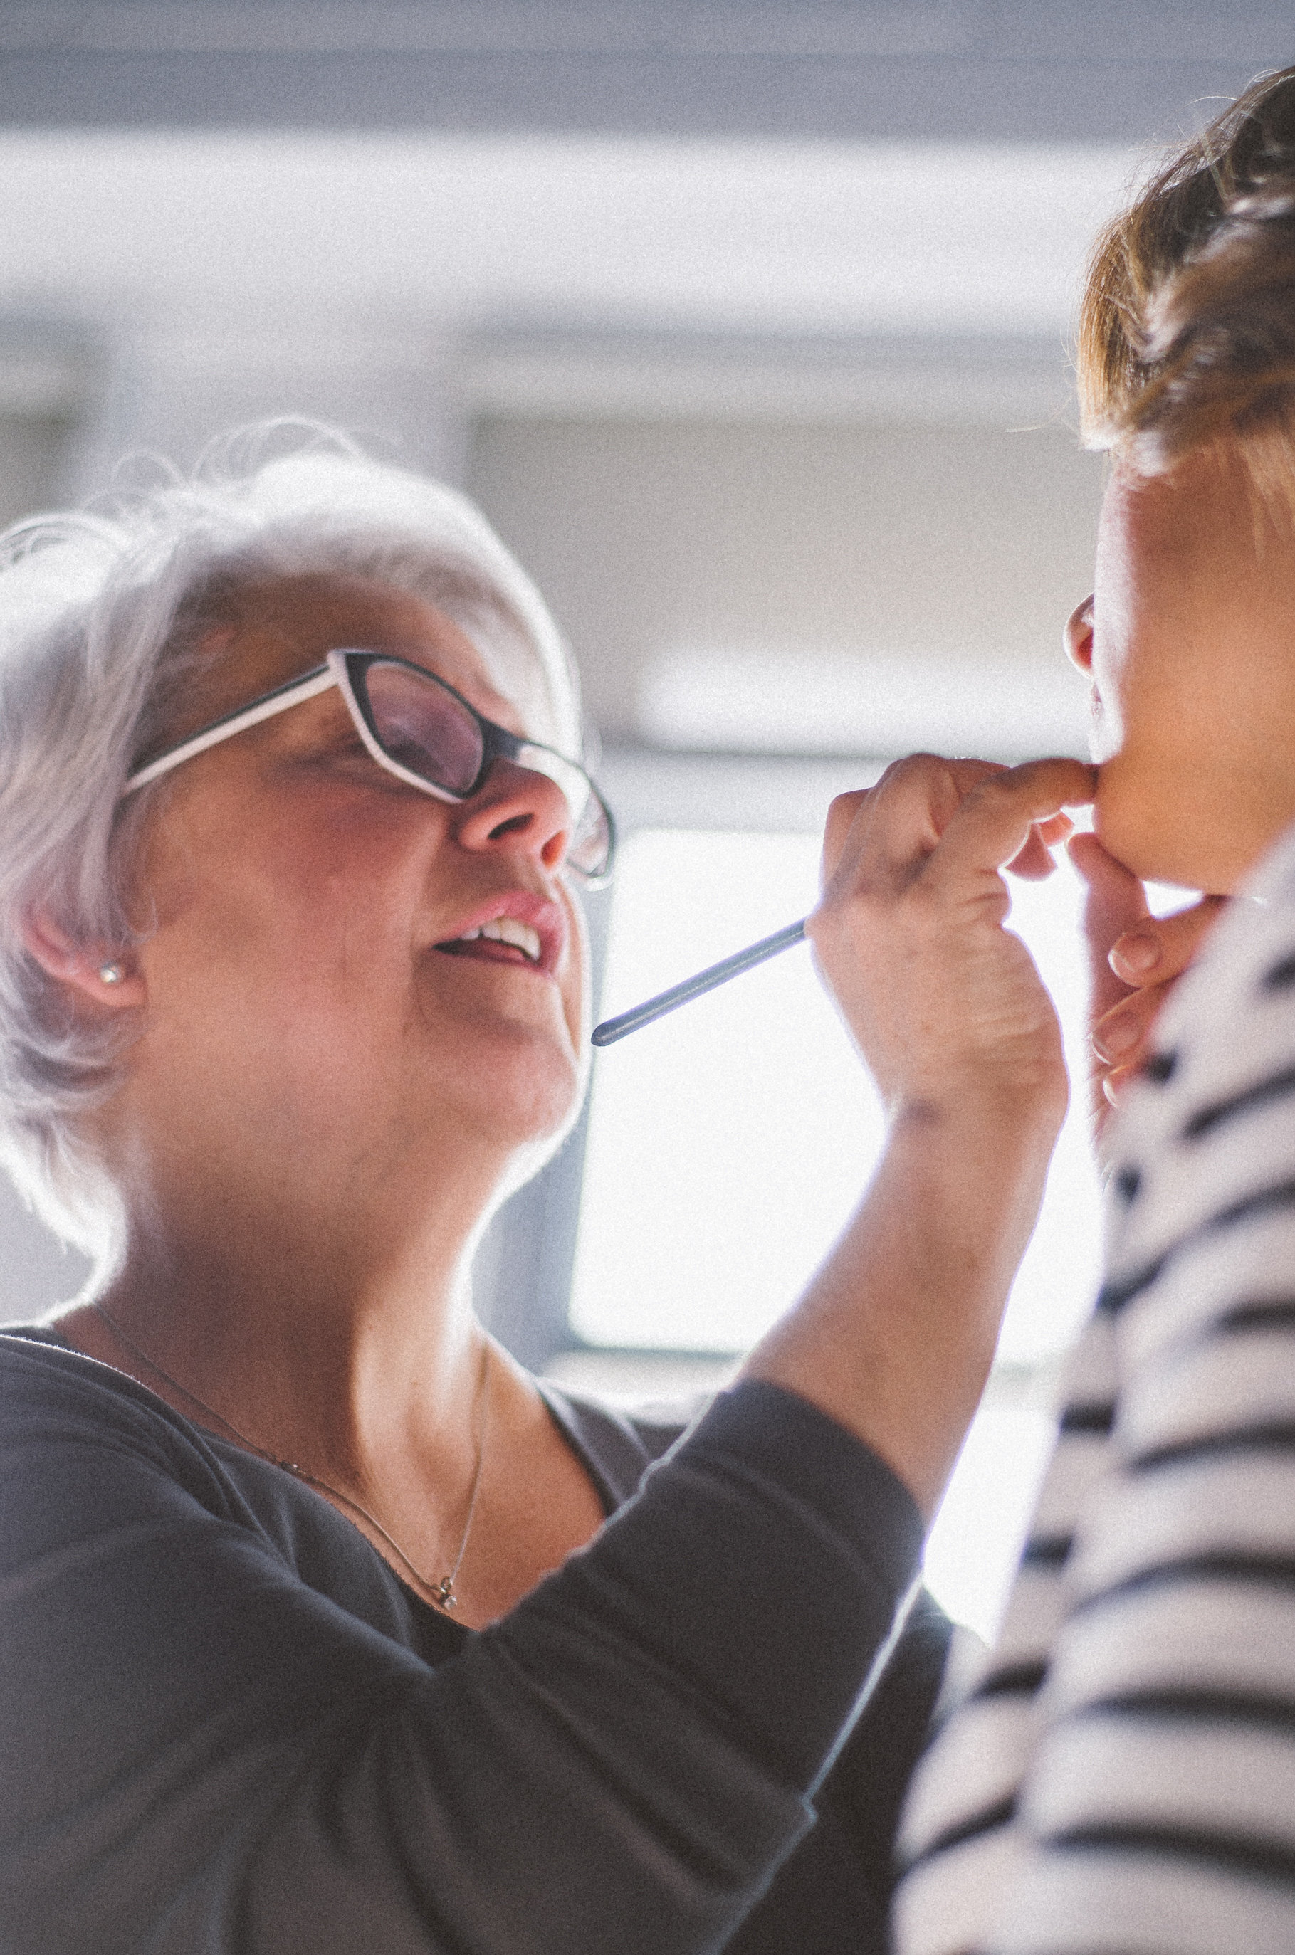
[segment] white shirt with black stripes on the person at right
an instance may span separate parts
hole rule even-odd
[[[1295,837],[1109,1136],[1107,1281],[900,1955],[1295,1951]]]

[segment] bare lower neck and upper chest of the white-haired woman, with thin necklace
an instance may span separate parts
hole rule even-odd
[[[473,1232],[475,1234],[475,1232]],[[387,1255],[368,1286],[303,1245],[237,1259],[156,1234],[131,1243],[96,1304],[59,1318],[68,1341],[246,1445],[333,1501],[426,1601],[458,1568],[454,1619],[481,1627],[603,1519],[585,1468],[534,1382],[487,1345],[440,1238]],[[307,1253],[309,1251],[309,1253]],[[489,1384],[487,1384],[489,1380]]]

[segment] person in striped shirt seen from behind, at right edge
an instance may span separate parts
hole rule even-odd
[[[904,1955],[1295,1947],[1295,68],[1101,240],[1092,674],[1115,964],[1137,878],[1232,897],[1129,1079],[1107,1282],[990,1668],[921,1767]],[[1103,852],[1105,850],[1105,852]],[[1199,921],[1199,919],[1197,919]],[[1140,950],[1140,954],[1139,954]],[[1131,962],[1133,960],[1133,962]],[[1107,972],[1107,981],[1111,974]]]

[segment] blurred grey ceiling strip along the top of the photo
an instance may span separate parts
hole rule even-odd
[[[1273,0],[0,0],[0,123],[1172,139]]]

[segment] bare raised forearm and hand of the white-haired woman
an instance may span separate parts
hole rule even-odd
[[[1066,1112],[1062,1040],[1002,870],[1045,874],[1092,768],[915,755],[827,815],[822,978],[890,1114],[880,1167],[747,1374],[800,1392],[929,1519],[994,1357]],[[829,1140],[826,1142],[829,1144]]]

